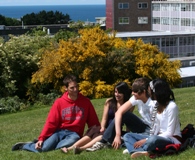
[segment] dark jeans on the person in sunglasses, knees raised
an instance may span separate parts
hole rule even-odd
[[[126,112],[125,114],[123,114],[121,125],[123,124],[125,124],[131,132],[136,133],[147,132],[147,134],[149,135],[150,130],[149,126],[146,125],[139,117],[137,117],[135,114],[131,112]],[[112,144],[115,135],[116,135],[115,119],[113,119],[109,126],[106,128],[102,139]]]

